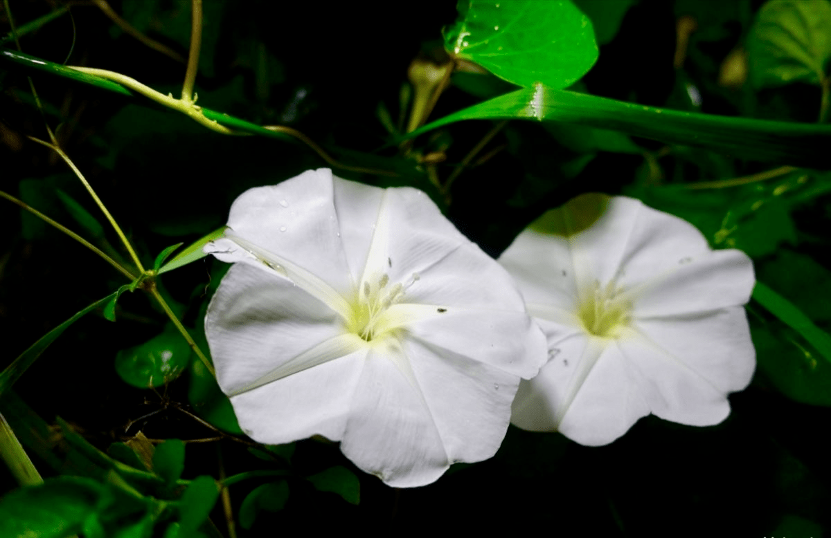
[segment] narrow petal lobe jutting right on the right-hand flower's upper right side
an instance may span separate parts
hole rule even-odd
[[[744,252],[707,252],[633,288],[632,315],[645,318],[745,305],[754,285],[753,262]]]

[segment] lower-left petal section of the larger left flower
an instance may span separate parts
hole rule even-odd
[[[283,444],[322,435],[343,438],[366,348],[231,399],[239,426],[258,443]]]

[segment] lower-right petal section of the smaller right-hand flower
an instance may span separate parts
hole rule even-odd
[[[691,335],[685,343],[694,343]],[[617,340],[652,413],[676,423],[708,426],[730,413],[725,393],[682,359],[635,331]]]

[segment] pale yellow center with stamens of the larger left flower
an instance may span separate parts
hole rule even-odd
[[[365,280],[352,302],[352,320],[348,329],[370,342],[387,332],[383,323],[386,310],[404,299],[405,291],[419,279],[413,273],[406,284],[390,286],[390,277],[385,274],[376,280]]]

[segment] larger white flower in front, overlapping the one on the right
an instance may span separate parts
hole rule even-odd
[[[542,332],[497,262],[413,188],[307,171],[234,202],[205,330],[260,443],[341,441],[395,487],[494,455]]]

